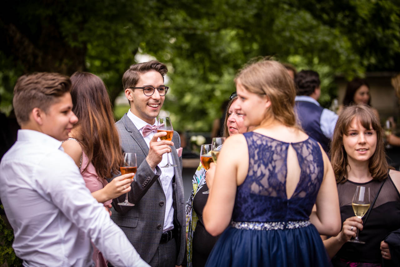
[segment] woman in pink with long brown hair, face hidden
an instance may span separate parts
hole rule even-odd
[[[94,74],[76,72],[70,79],[74,104],[72,111],[79,120],[62,147],[79,167],[92,196],[108,209],[113,198],[130,191],[132,182],[132,179],[124,180],[121,176],[114,178],[109,184],[106,180],[119,172],[122,162],[110,98],[103,81]],[[96,267],[107,266],[96,247],[93,260]]]

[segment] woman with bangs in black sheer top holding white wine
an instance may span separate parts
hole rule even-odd
[[[391,260],[386,235],[400,227],[400,172],[389,170],[383,130],[365,105],[346,107],[334,131],[331,161],[338,183],[342,231],[324,241],[334,266],[399,266]],[[370,188],[374,200],[365,224],[354,216],[352,198],[357,186]],[[363,218],[364,219],[364,218]],[[365,244],[349,243],[356,237]]]

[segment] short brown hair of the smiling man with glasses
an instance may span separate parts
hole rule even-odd
[[[122,85],[124,86],[124,90],[130,87],[135,87],[139,81],[139,74],[148,71],[158,71],[164,81],[164,76],[167,74],[168,68],[164,63],[155,60],[131,65],[122,76]]]

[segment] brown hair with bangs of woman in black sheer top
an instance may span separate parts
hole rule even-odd
[[[347,135],[348,127],[354,118],[358,119],[365,129],[370,129],[372,126],[372,129],[376,131],[376,150],[369,159],[368,169],[372,178],[382,181],[386,178],[389,168],[384,150],[383,129],[372,109],[360,104],[345,107],[336,123],[330,149],[336,182],[344,183],[347,181],[348,160],[343,145],[343,135]]]

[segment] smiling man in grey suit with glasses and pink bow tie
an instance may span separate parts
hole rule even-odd
[[[151,266],[185,265],[186,220],[182,182],[180,137],[159,140],[158,113],[168,87],[166,65],[149,61],[130,66],[122,77],[130,109],[116,122],[123,152],[136,153],[138,169],[128,193],[135,206],[120,206],[125,196],[113,200],[112,220],[121,227],[140,257]],[[171,152],[171,153],[169,153]],[[169,154],[167,154],[169,153]],[[166,165],[167,157],[176,166]]]

